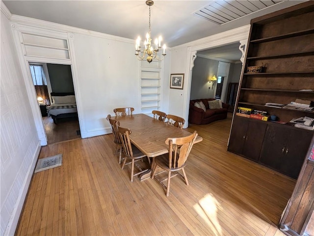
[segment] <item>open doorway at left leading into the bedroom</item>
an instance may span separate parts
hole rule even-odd
[[[51,93],[72,93],[75,95],[71,65],[38,62],[29,62],[28,64],[35,87],[38,107],[42,116],[44,131],[47,137],[47,144],[81,138],[77,117],[57,119],[58,122],[55,124],[50,114],[65,114],[68,112],[67,108],[56,109],[57,104],[54,103]],[[66,96],[60,98],[66,100]],[[60,99],[58,100],[60,101]],[[62,104],[59,106],[71,105],[75,107],[77,111],[75,100],[73,103],[71,102],[71,104],[63,103],[62,100],[61,103]],[[55,109],[52,110],[52,108]],[[74,108],[72,108],[72,111],[73,109]]]

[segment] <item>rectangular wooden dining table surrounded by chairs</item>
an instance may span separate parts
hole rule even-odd
[[[167,138],[185,137],[191,132],[179,129],[166,122],[161,122],[145,114],[134,114],[127,116],[113,116],[120,122],[120,126],[131,130],[131,142],[147,157],[157,157],[168,153]],[[201,142],[203,138],[197,136],[194,143]],[[151,170],[140,175],[140,180],[150,178]]]

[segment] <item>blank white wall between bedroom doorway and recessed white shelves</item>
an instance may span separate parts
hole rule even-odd
[[[134,107],[138,113],[139,80],[134,46],[110,39],[76,33],[74,35],[80,115],[87,136],[108,129],[105,117],[115,107]]]

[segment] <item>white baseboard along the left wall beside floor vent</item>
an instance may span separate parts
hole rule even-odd
[[[35,165],[39,156],[40,148],[41,148],[40,141],[38,141],[36,151],[33,155],[31,164],[29,165],[29,168],[27,170],[26,178],[24,179],[24,182],[22,184],[22,191],[20,191],[18,199],[16,200],[14,210],[11,214],[11,218],[9,220],[9,223],[7,224],[4,235],[8,236],[15,235],[16,227],[19,223],[20,215],[22,213],[24,202],[26,200],[26,194],[29,188],[30,180],[31,177],[33,176]]]

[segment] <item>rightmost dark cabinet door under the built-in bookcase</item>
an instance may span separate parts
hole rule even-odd
[[[297,179],[313,134],[303,130],[291,130],[289,133],[289,139],[280,165],[280,172]]]

